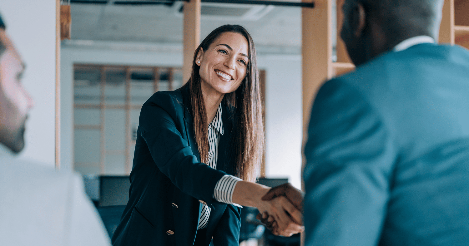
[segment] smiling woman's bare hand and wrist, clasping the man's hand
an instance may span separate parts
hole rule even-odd
[[[270,201],[263,201],[270,187],[239,181],[236,183],[232,201],[242,206],[256,207],[261,213],[266,212],[275,221],[274,234],[291,236],[304,230],[303,215],[285,196],[278,196]]]

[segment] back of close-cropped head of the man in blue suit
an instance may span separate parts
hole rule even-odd
[[[345,0],[341,37],[360,65],[410,37],[437,40],[442,7],[443,0]]]

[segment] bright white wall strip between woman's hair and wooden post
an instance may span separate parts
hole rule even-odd
[[[265,175],[301,189],[301,55],[258,55],[265,69]]]

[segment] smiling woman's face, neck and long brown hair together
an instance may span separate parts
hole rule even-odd
[[[254,181],[264,148],[264,127],[256,50],[248,31],[239,25],[213,30],[194,54],[186,87],[190,87],[192,112],[196,112],[195,139],[202,162],[206,161],[209,149],[207,127],[203,126],[212,121],[225,98],[227,104],[236,108],[238,116],[234,139],[240,141],[232,143],[236,174]]]

